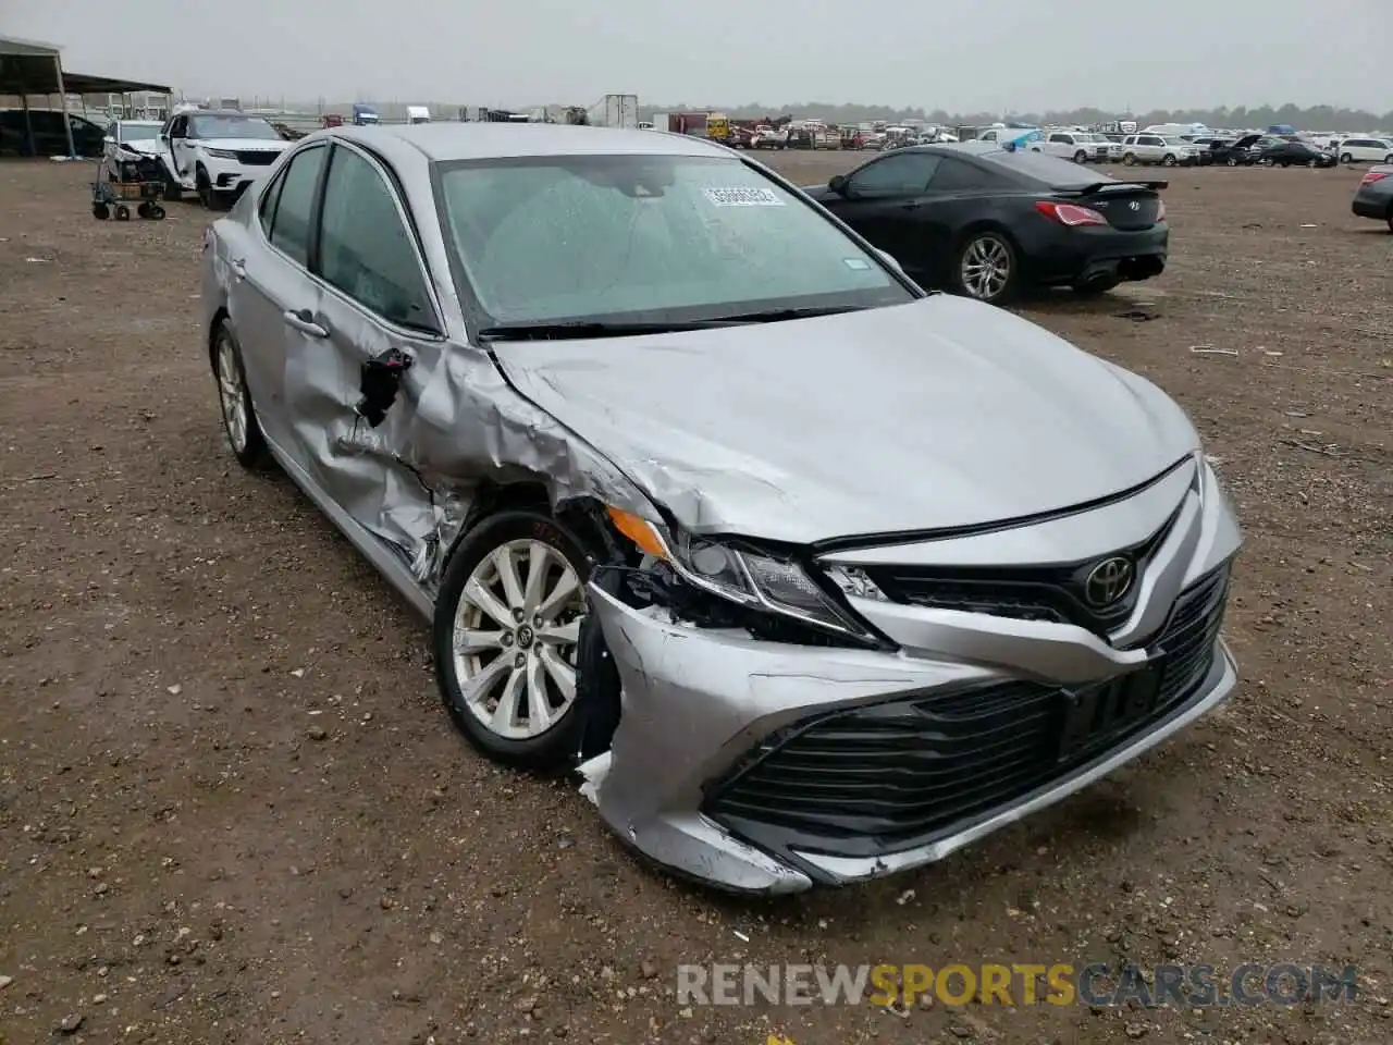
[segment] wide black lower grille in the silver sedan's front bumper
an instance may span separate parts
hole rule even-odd
[[[1223,566],[1181,594],[1139,672],[1074,691],[1009,681],[814,718],[768,737],[710,786],[705,811],[776,850],[871,857],[932,843],[1192,698],[1213,665],[1227,581]],[[1139,681],[1145,706],[1124,708]],[[1082,729],[1081,702],[1091,708]]]

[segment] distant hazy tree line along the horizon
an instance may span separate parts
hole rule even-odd
[[[673,106],[644,106],[645,116],[649,113],[681,111],[685,104]],[[705,106],[702,106],[705,107]],[[1027,124],[1098,124],[1109,120],[1135,120],[1146,124],[1166,123],[1199,123],[1208,127],[1270,127],[1273,124],[1290,124],[1312,131],[1373,131],[1379,128],[1393,130],[1393,111],[1378,114],[1364,109],[1341,109],[1339,106],[1311,106],[1302,109],[1295,104],[1258,106],[1248,109],[1237,106],[1229,109],[1155,109],[1149,113],[1117,113],[1103,109],[1070,109],[1064,111],[1048,113],[949,113],[943,109],[896,109],[894,106],[857,106],[833,104],[830,102],[800,102],[784,106],[742,104],[726,109],[730,116],[738,120],[751,120],[762,116],[790,114],[794,118],[820,117],[832,124],[859,124],[875,120],[894,123],[897,120],[924,120],[931,124],[975,127],[992,124],[999,120],[1014,120]]]

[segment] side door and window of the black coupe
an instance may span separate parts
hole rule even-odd
[[[912,274],[931,258],[915,212],[924,206],[937,166],[937,153],[892,152],[854,171],[846,196],[833,195],[823,202]]]

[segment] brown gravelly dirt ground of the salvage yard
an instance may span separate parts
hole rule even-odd
[[[1357,173],[1176,171],[1160,279],[1024,308],[1208,439],[1248,538],[1233,699],[940,865],[780,901],[674,885],[574,784],[465,748],[422,624],[224,446],[205,215],[98,223],[89,173],[0,164],[4,1045],[1393,1039],[1393,235],[1351,217]],[[684,961],[1123,959],[1357,963],[1362,996],[674,999]]]

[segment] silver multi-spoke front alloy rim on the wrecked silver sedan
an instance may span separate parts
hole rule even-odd
[[[575,648],[585,592],[552,545],[508,541],[485,556],[454,616],[454,670],[464,705],[490,733],[531,740],[575,702]]]

